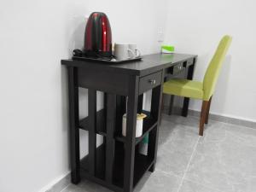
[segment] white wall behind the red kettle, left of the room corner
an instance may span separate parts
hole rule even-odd
[[[114,42],[138,44],[149,54],[159,50],[165,5],[154,0],[1,1],[1,192],[44,191],[69,171],[67,71],[60,61],[82,47],[84,16],[105,12]],[[80,95],[84,104],[86,91]]]

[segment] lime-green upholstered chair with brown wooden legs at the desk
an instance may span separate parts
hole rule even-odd
[[[164,84],[164,94],[202,100],[199,127],[200,136],[203,136],[204,124],[208,123],[212,95],[215,90],[215,85],[218,80],[218,74],[222,67],[224,57],[230,47],[231,40],[232,38],[230,36],[224,36],[224,38],[221,39],[218,44],[218,49],[207,67],[203,82],[187,79],[172,79]]]

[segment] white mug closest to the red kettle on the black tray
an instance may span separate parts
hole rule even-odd
[[[135,53],[129,48],[129,44],[114,44],[114,54],[118,61],[129,60],[135,57]]]

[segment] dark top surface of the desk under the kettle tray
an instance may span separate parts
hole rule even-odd
[[[194,59],[197,55],[187,54],[151,54],[143,55],[142,61],[132,61],[122,64],[106,64],[95,61],[76,61],[76,60],[61,60],[62,65],[67,67],[84,67],[96,68],[104,71],[111,71],[112,73],[125,73],[130,75],[143,76],[148,73],[154,73],[161,69],[172,67],[173,65]]]

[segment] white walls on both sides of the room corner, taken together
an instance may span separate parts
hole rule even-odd
[[[167,43],[176,45],[177,52],[199,55],[195,79],[202,79],[219,38],[232,35],[212,112],[256,120],[253,0],[166,5],[166,0],[1,1],[1,192],[44,191],[69,171],[67,71],[60,60],[82,47],[84,16],[92,11],[108,15],[113,42],[138,44],[143,54],[158,52],[158,32],[167,26]],[[85,106],[86,90],[80,90],[82,95]],[[191,102],[190,108],[200,105]],[[85,154],[85,133],[82,138]]]

